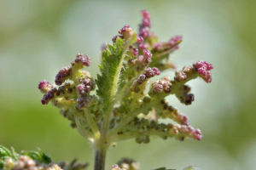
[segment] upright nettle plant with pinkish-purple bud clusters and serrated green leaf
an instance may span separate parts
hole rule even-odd
[[[202,138],[201,131],[191,127],[188,117],[165,98],[174,94],[182,104],[191,105],[194,94],[189,93],[186,83],[197,77],[212,82],[213,66],[200,60],[175,71],[174,79],[161,77],[150,81],[160,71],[175,69],[168,59],[179,48],[182,37],[158,42],[150,31],[148,11],[141,14],[143,22],[138,34],[130,26],[124,26],[113,37],[113,44],[102,45],[100,74],[96,78],[82,70],[90,66],[90,57],[77,54],[71,65],[61,68],[56,75],[58,88],[45,80],[38,85],[44,94],[42,104],[50,102],[58,107],[61,115],[70,120],[71,127],[90,141],[95,150],[95,170],[105,168],[108,148],[122,140],[135,139],[138,144],[148,144],[151,136],[181,141]],[[96,93],[91,94],[94,90]],[[161,119],[172,119],[177,124],[160,123]],[[112,170],[138,168],[131,160],[122,162]]]

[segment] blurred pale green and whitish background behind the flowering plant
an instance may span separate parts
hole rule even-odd
[[[252,1],[0,1],[0,144],[44,150],[55,161],[78,158],[93,168],[93,151],[52,105],[41,105],[38,82],[77,53],[89,54],[95,77],[102,42],[122,26],[137,30],[148,9],[161,41],[183,35],[171,60],[182,69],[202,59],[214,65],[212,83],[189,82],[193,105],[168,101],[203,133],[198,142],[134,140],[108,152],[107,167],[129,156],[143,170],[256,169],[256,2]],[[173,71],[162,72],[173,77]]]

